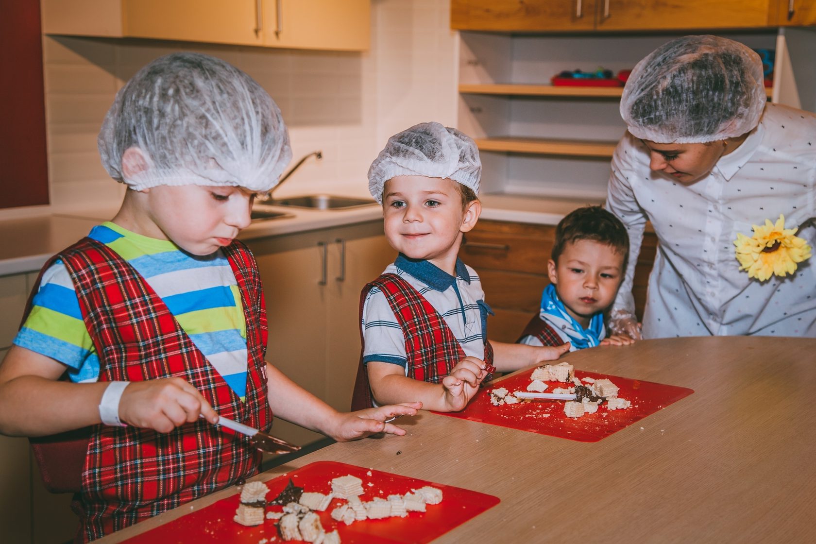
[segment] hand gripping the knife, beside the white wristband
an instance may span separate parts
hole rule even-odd
[[[181,378],[131,382],[122,391],[119,418],[134,427],[170,432],[199,415],[215,423],[218,414],[198,390]]]

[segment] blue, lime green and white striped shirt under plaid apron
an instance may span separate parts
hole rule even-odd
[[[168,240],[110,222],[88,237],[107,245],[135,268],[224,381],[246,396],[246,321],[233,269],[219,250],[198,256]],[[73,282],[61,261],[43,274],[33,307],[14,339],[17,346],[59,360],[71,381],[96,382],[100,360],[82,321]]]

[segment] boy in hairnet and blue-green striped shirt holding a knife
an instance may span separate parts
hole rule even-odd
[[[157,59],[118,92],[99,147],[128,186],[122,208],[43,268],[0,365],[0,432],[88,427],[79,540],[254,475],[259,452],[220,416],[266,430],[274,411],[335,440],[405,434],[384,420],[419,404],[340,414],[264,361],[264,294],[235,237],[291,152],[251,77],[206,55]]]

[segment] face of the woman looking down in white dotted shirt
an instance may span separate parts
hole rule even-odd
[[[681,184],[693,184],[705,177],[725,153],[727,142],[720,140],[705,144],[658,144],[648,139],[649,167],[677,179]]]

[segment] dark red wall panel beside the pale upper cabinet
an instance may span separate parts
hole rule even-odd
[[[48,203],[38,0],[0,0],[0,208]]]

